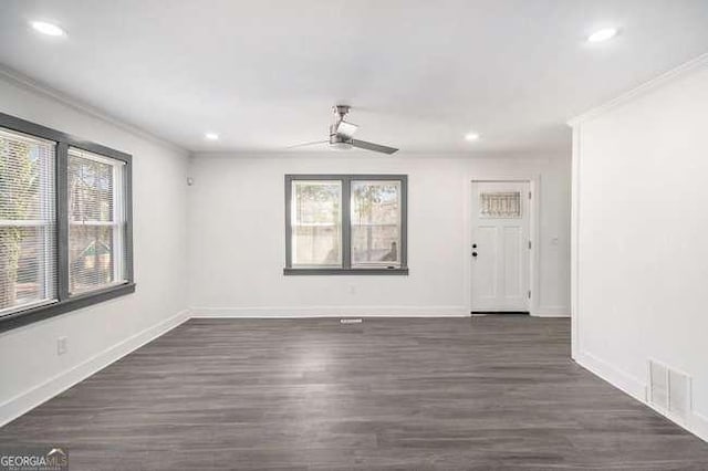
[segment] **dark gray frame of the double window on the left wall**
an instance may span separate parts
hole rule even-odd
[[[0,127],[56,143],[54,155],[54,216],[56,258],[56,300],[41,305],[21,308],[0,316],[0,332],[9,331],[60,314],[87,307],[114,297],[135,292],[133,271],[133,157],[129,154],[88,142],[50,127],[0,113]],[[123,176],[125,201],[124,258],[125,282],[102,290],[71,295],[69,293],[69,148],[74,147],[97,154],[125,165]]]

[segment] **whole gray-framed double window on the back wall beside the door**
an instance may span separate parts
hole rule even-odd
[[[285,274],[407,274],[405,175],[287,175]]]

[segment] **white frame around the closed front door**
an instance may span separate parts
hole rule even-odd
[[[540,174],[517,174],[517,175],[486,175],[473,174],[465,178],[465,211],[462,220],[465,221],[465,305],[467,312],[472,312],[472,184],[473,182],[528,182],[531,191],[531,201],[529,202],[529,236],[531,237],[531,250],[529,253],[529,289],[531,297],[529,299],[529,314],[538,315],[539,312],[539,294],[540,294],[540,273],[539,273],[539,244],[540,244],[540,224],[539,224],[539,205],[541,200],[541,175]]]

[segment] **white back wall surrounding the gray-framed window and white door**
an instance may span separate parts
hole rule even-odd
[[[410,275],[283,276],[283,176],[305,172],[407,174]],[[196,315],[468,314],[469,181],[537,175],[542,199],[538,314],[570,314],[570,156],[198,155],[190,175]]]

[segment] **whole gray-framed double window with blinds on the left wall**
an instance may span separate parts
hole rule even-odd
[[[0,113],[0,331],[134,291],[131,156]]]

